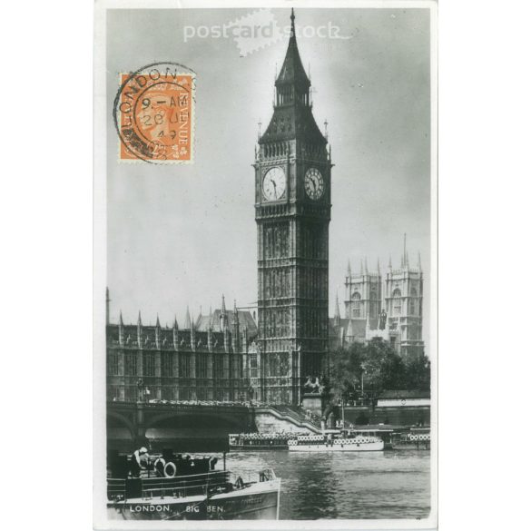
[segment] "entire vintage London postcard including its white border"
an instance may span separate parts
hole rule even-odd
[[[94,526],[437,527],[437,4],[133,7],[95,17]]]

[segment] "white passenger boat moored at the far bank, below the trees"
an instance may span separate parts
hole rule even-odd
[[[384,449],[384,441],[376,435],[348,429],[325,429],[320,435],[290,438],[288,449],[295,452],[374,452]]]

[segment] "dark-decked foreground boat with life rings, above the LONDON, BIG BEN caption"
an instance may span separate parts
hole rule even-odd
[[[150,456],[140,477],[124,473],[129,467],[123,462],[107,478],[109,518],[279,519],[280,478],[272,470],[261,470],[254,479],[233,479],[224,467],[216,470],[216,462],[209,457]]]

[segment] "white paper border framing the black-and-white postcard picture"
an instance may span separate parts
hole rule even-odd
[[[105,494],[105,308],[106,287],[106,9],[112,8],[186,8],[186,7],[351,7],[415,8],[430,10],[431,41],[431,300],[430,348],[432,362],[431,426],[431,513],[428,518],[373,520],[279,520],[228,522],[122,522],[106,517]],[[94,8],[94,177],[93,177],[93,526],[95,529],[432,529],[438,526],[438,6],[434,0],[331,0],[262,2],[233,0],[230,4],[203,0],[101,0]]]

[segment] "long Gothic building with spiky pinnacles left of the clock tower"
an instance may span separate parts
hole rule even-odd
[[[109,297],[107,294],[107,316]],[[107,318],[107,399],[260,399],[260,352],[251,313],[221,310],[190,318],[182,327],[143,325]],[[146,394],[147,393],[147,394]]]

